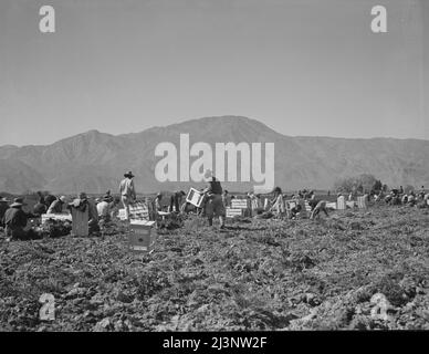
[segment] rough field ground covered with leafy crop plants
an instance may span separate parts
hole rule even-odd
[[[145,256],[125,225],[0,237],[0,330],[429,330],[428,230],[428,209],[383,206],[224,231],[192,217]],[[43,293],[53,321],[39,319]]]

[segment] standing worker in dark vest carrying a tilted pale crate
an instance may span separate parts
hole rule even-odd
[[[212,176],[210,170],[207,170],[205,174],[205,178],[209,179],[208,186],[203,189],[203,192],[207,196],[206,202],[206,215],[209,220],[209,226],[213,226],[213,216],[219,217],[220,228],[224,229],[224,207],[222,202],[222,186],[220,181]]]

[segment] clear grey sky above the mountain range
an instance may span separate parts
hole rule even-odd
[[[370,31],[376,4],[388,33]],[[428,139],[428,48],[426,0],[1,0],[0,145],[230,114]]]

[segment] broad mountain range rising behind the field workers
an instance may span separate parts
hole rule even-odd
[[[292,137],[254,119],[221,116],[122,135],[90,131],[43,146],[1,146],[0,190],[116,192],[127,170],[136,176],[138,192],[200,187],[192,181],[159,183],[155,178],[155,166],[161,159],[155,156],[155,147],[161,142],[178,147],[180,133],[189,134],[191,146],[197,142],[213,147],[229,142],[274,143],[275,185],[284,190],[329,189],[338,178],[360,174],[373,174],[388,186],[429,185],[429,140]],[[233,191],[250,190],[252,186],[253,183],[223,184]]]

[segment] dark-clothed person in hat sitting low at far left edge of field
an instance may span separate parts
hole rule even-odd
[[[36,232],[33,229],[25,230],[28,219],[33,215],[22,210],[22,207],[27,206],[23,198],[15,198],[6,210],[2,223],[6,227],[4,233],[7,237],[11,237],[17,240],[30,240],[35,238]]]

